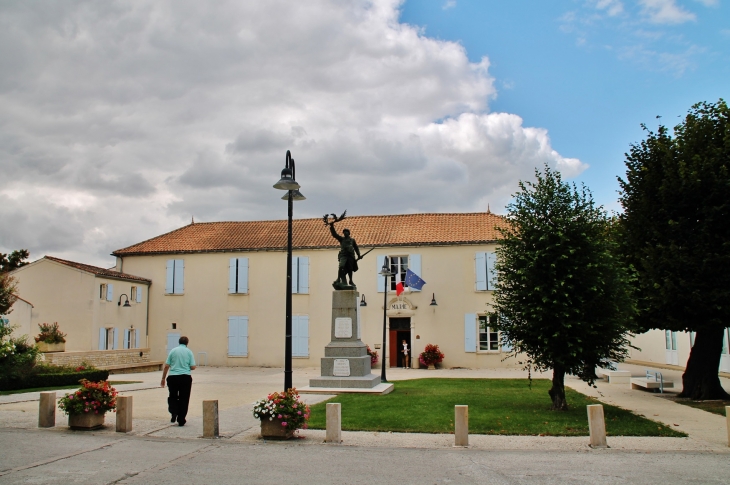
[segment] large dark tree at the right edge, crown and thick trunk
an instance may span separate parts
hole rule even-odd
[[[717,376],[730,325],[730,110],[692,106],[626,154],[622,249],[637,272],[641,331],[696,332],[680,396],[728,399]]]

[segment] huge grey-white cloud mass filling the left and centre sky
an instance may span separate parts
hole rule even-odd
[[[0,5],[0,251],[92,264],[196,221],[499,210],[547,131],[396,0]],[[7,230],[10,228],[10,230]]]

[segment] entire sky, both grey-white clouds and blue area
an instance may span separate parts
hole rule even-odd
[[[545,164],[620,210],[641,124],[728,97],[727,4],[1,2],[0,252],[284,219],[287,150],[296,218],[504,213]]]

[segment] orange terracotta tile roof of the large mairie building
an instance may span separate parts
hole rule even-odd
[[[358,246],[443,246],[493,242],[496,226],[506,223],[492,213],[348,216],[335,226],[350,229]],[[336,248],[322,219],[293,222],[295,249]],[[115,256],[216,251],[271,251],[286,248],[286,221],[196,222],[167,234],[118,249]]]

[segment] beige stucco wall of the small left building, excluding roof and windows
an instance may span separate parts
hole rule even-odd
[[[34,306],[28,332],[31,337],[38,334],[39,323],[58,322],[67,334],[66,350],[97,350],[99,329],[118,328],[121,349],[123,329],[134,326],[142,329],[140,346],[146,347],[148,290],[143,283],[97,277],[48,259],[23,266],[13,276],[18,281],[18,295]],[[99,297],[101,284],[113,285],[112,301]],[[131,308],[117,305],[119,296],[129,295],[133,285],[143,289],[142,303],[130,300]]]

